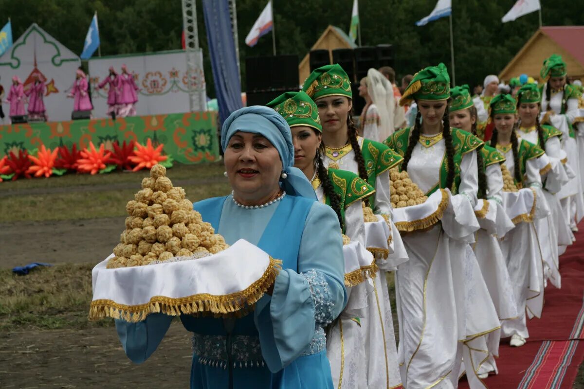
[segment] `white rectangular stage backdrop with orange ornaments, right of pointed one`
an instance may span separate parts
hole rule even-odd
[[[96,86],[109,74],[113,66],[121,73],[121,65],[134,73],[138,92],[136,110],[138,115],[155,115],[189,111],[189,78],[196,90],[197,104],[194,111],[206,111],[203,55],[199,51],[197,69],[186,74],[185,51],[161,51],[134,55],[112,55],[94,57],[89,60],[89,75],[92,86],[93,116],[105,117],[107,111],[107,89],[96,90]]]

